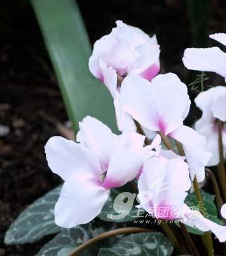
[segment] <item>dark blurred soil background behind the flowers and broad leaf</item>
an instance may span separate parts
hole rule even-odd
[[[218,45],[207,35],[226,32],[224,0],[77,2],[92,44],[122,19],[155,33],[161,72],[175,72],[186,82],[196,78],[181,62],[185,48]],[[65,123],[68,118],[29,1],[1,1],[0,35],[0,255],[35,255],[48,238],[6,247],[4,233],[28,204],[60,183],[48,169],[43,147],[50,136],[59,135],[55,121]],[[222,82],[218,75],[207,75],[208,85]],[[196,96],[188,90],[191,98]],[[186,123],[199,116],[192,105]]]

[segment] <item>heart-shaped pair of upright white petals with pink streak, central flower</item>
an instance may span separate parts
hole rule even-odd
[[[152,82],[126,77],[122,82],[120,100],[122,109],[141,125],[165,134],[182,125],[190,106],[185,84],[171,73],[157,75]]]

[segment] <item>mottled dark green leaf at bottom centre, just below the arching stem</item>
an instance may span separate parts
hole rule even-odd
[[[173,252],[168,238],[162,233],[136,233],[122,237],[112,248],[100,248],[98,256],[168,256]]]

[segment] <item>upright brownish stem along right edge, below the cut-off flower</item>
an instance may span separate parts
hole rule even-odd
[[[223,122],[221,120],[218,120],[218,148],[219,148],[219,158],[220,158],[220,163],[218,164],[218,175],[220,180],[220,186],[223,192],[223,199],[224,201],[226,201],[226,172],[225,172],[225,163],[223,159],[222,129],[223,129]]]

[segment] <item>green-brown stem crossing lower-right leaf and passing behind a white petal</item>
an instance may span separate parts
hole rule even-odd
[[[198,181],[196,179],[196,176],[194,177],[194,180],[193,180],[193,186],[194,186],[195,196],[196,196],[198,203],[204,204],[200,188],[198,187]],[[213,240],[212,240],[210,231],[206,232],[203,235],[202,240],[203,240],[205,247],[207,248],[208,256],[214,255]]]

